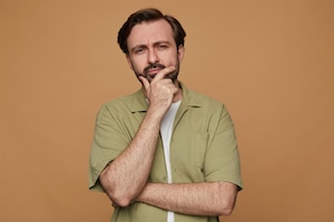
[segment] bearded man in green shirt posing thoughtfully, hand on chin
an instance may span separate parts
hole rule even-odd
[[[89,188],[107,193],[112,222],[214,222],[234,209],[234,125],[223,104],[178,81],[185,37],[157,9],[132,13],[118,32],[141,89],[97,117]]]

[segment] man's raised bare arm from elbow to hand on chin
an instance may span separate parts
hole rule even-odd
[[[173,70],[171,70],[173,71]],[[151,83],[141,79],[149,100],[147,113],[130,144],[100,174],[100,183],[117,205],[130,204],[143,191],[149,175],[159,137],[160,121],[171,104],[177,88],[160,71]]]

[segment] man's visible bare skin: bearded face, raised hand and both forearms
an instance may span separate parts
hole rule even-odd
[[[160,122],[170,104],[183,97],[177,74],[185,50],[176,46],[165,20],[136,24],[127,43],[127,61],[141,82],[149,107],[134,140],[100,175],[112,205],[124,208],[140,201],[184,214],[229,215],[237,195],[232,183],[147,183]]]

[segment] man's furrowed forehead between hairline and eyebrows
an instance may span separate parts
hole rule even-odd
[[[127,39],[129,49],[138,44],[153,44],[158,41],[174,43],[171,27],[163,19],[136,24]]]

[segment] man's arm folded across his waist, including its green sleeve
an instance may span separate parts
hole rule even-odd
[[[147,184],[138,201],[168,211],[190,215],[229,215],[234,209],[239,181],[239,158],[233,123],[220,107],[209,125],[213,134],[203,167],[206,181],[198,183]],[[223,182],[229,181],[229,182]],[[190,182],[190,181],[189,181]]]

